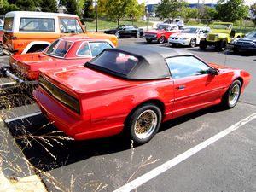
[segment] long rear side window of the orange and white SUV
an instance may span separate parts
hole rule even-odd
[[[20,18],[22,32],[55,32],[55,20],[45,18]]]

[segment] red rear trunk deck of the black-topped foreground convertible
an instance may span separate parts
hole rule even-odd
[[[57,81],[58,84],[63,84],[67,89],[73,90],[78,94],[119,90],[135,83],[134,81],[118,79],[84,66],[41,69],[40,71]]]

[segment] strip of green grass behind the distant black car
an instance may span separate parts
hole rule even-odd
[[[87,31],[95,32],[96,22],[95,20],[92,22],[85,22]],[[120,25],[134,25],[138,27],[147,26],[147,22],[145,21],[136,21],[132,22],[131,20],[122,20],[120,21]],[[152,26],[153,23],[148,22],[148,26]],[[111,29],[117,26],[116,21],[108,21],[108,20],[98,20],[98,30]]]

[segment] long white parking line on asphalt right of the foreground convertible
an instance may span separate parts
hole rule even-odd
[[[166,172],[167,170],[171,169],[173,166],[176,166],[177,164],[181,163],[183,160],[189,159],[192,155],[198,153],[204,148],[207,148],[212,143],[217,142],[219,139],[227,136],[233,131],[236,131],[238,128],[240,128],[242,125],[247,124],[248,122],[252,121],[253,119],[256,119],[256,113],[251,114],[245,119],[242,119],[241,121],[237,122],[235,125],[231,125],[229,128],[225,129],[224,131],[219,132],[218,134],[214,135],[213,137],[208,138],[206,141],[199,143],[194,148],[190,148],[189,150],[185,151],[183,154],[177,155],[172,160],[166,161],[166,163],[154,168],[153,170],[145,173],[141,177],[137,177],[133,181],[126,183],[124,186],[120,187],[119,189],[115,189],[113,192],[123,192],[123,191],[131,191],[132,189],[137,189],[137,187],[141,186],[143,183],[147,183],[149,180],[153,179],[154,177],[157,177],[163,172]]]

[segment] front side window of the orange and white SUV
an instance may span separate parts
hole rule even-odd
[[[61,18],[60,29],[61,33],[84,33],[79,21],[76,19]]]

